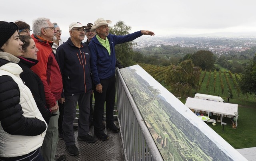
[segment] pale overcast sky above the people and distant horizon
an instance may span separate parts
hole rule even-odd
[[[39,17],[57,22],[68,36],[71,22],[93,23],[98,18],[123,21],[131,32],[146,29],[156,35],[215,32],[256,32],[254,0],[3,0],[1,20]]]

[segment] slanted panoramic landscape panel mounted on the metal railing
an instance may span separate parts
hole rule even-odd
[[[245,161],[139,65],[120,69],[165,161]]]

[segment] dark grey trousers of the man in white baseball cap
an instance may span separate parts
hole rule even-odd
[[[90,93],[65,96],[63,115],[63,135],[66,146],[76,143],[73,123],[76,118],[76,105],[79,107],[78,136],[87,135],[89,132]]]

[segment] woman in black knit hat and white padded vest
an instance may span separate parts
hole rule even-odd
[[[43,161],[47,124],[19,76],[22,45],[18,26],[0,21],[0,160]]]

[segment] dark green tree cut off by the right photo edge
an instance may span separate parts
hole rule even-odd
[[[256,56],[254,56],[254,59],[245,67],[244,74],[239,84],[243,94],[256,95]]]

